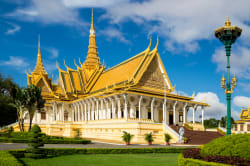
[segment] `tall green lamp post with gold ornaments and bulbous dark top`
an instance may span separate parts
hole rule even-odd
[[[230,54],[231,54],[231,45],[235,42],[235,40],[240,37],[242,29],[237,26],[232,26],[229,18],[227,17],[227,21],[225,25],[216,29],[214,35],[218,38],[226,48],[226,56],[227,56],[227,80],[224,75],[221,78],[221,87],[225,90],[227,96],[227,135],[231,135],[231,95],[233,93],[233,89],[236,86],[237,79],[236,76],[232,78],[230,82]]]

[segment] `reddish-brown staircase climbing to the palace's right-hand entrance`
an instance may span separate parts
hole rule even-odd
[[[179,133],[181,126],[169,125],[173,130]],[[222,137],[219,132],[213,131],[193,131],[184,127],[184,137],[188,138],[187,144],[201,145],[212,141],[215,138]]]

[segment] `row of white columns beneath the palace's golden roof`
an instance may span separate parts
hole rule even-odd
[[[187,123],[187,112],[190,108],[192,108],[192,120],[195,123],[195,113],[199,106],[201,107],[203,124],[203,105],[140,95],[120,94],[107,98],[88,98],[70,104],[54,102],[52,104],[52,119],[53,121],[87,122],[103,119],[137,118],[139,120],[151,119],[153,122],[175,125]],[[170,113],[173,116],[171,122],[169,119]],[[180,114],[182,114],[182,121]]]

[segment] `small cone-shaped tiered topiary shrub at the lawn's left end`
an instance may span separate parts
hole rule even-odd
[[[30,140],[28,143],[28,149],[27,151],[29,153],[25,154],[25,157],[30,158],[42,158],[43,150],[40,147],[43,147],[44,143],[41,137],[41,129],[38,125],[34,125],[30,130]]]

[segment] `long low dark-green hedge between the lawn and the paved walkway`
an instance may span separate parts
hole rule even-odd
[[[182,153],[187,148],[43,148],[48,156],[71,154],[138,154],[138,153]],[[26,150],[10,150],[17,158],[23,157]]]

